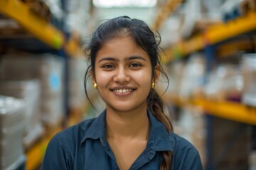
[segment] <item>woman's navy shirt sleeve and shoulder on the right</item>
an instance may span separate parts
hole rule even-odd
[[[175,133],[171,133],[169,137],[174,142],[174,169],[203,169],[198,150],[191,142]]]

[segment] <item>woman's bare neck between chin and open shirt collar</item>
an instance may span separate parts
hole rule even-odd
[[[117,112],[107,108],[106,115],[107,137],[139,138],[147,140],[149,133],[149,118],[146,108],[135,111]]]

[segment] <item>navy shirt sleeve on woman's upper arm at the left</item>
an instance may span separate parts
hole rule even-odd
[[[42,165],[42,170],[56,169],[73,169],[68,145],[60,134],[55,135],[48,143]]]

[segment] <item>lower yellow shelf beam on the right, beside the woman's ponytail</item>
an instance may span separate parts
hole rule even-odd
[[[208,101],[204,98],[187,99],[178,98],[177,96],[169,96],[168,99],[176,106],[200,106],[203,108],[203,111],[209,115],[249,125],[256,125],[256,108],[245,106],[242,103],[231,101]]]

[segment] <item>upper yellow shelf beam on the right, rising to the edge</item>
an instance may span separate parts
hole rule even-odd
[[[205,30],[204,33],[174,44],[171,50],[166,50],[169,57],[164,62],[170,62],[177,57],[183,57],[191,52],[202,50],[206,45],[213,45],[255,29],[256,12],[247,13],[246,16],[240,16],[228,23],[219,23],[215,26],[211,26]]]

